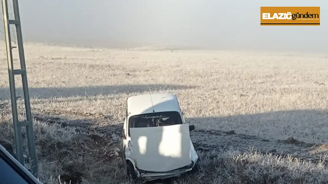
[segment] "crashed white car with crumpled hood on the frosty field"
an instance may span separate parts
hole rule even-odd
[[[165,179],[191,171],[198,160],[177,97],[151,93],[127,99],[123,153],[135,182]]]

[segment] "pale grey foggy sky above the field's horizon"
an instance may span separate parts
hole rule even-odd
[[[261,6],[320,6],[321,25],[260,26]],[[26,41],[328,50],[327,0],[19,0],[19,8]]]

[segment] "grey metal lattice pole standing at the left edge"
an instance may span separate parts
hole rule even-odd
[[[36,150],[35,150],[35,142],[34,142],[33,119],[31,113],[29,88],[27,84],[25,54],[24,54],[22,30],[21,30],[21,23],[20,23],[20,16],[19,16],[18,0],[12,0],[12,8],[14,12],[14,20],[9,19],[8,0],[2,0],[2,13],[3,13],[3,23],[4,23],[4,32],[5,32],[6,49],[7,49],[12,120],[13,120],[14,132],[15,132],[16,159],[22,165],[25,165],[24,164],[25,159],[23,155],[22,130],[21,130],[21,127],[25,126],[26,133],[27,133],[29,156],[31,159],[31,170],[32,170],[32,174],[36,175],[37,158],[36,158]],[[11,46],[10,25],[15,25],[16,28],[20,69],[13,68],[14,64],[13,64],[13,57],[12,57],[12,49],[15,47]],[[15,75],[22,76],[24,101],[25,101],[25,109],[26,109],[26,121],[23,122],[20,122],[18,120]]]

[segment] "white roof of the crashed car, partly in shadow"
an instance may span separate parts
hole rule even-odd
[[[153,112],[181,112],[174,93],[147,93],[130,96],[127,99],[128,115],[139,115]]]

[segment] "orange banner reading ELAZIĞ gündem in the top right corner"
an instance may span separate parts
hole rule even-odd
[[[320,7],[261,7],[261,25],[320,25]]]

